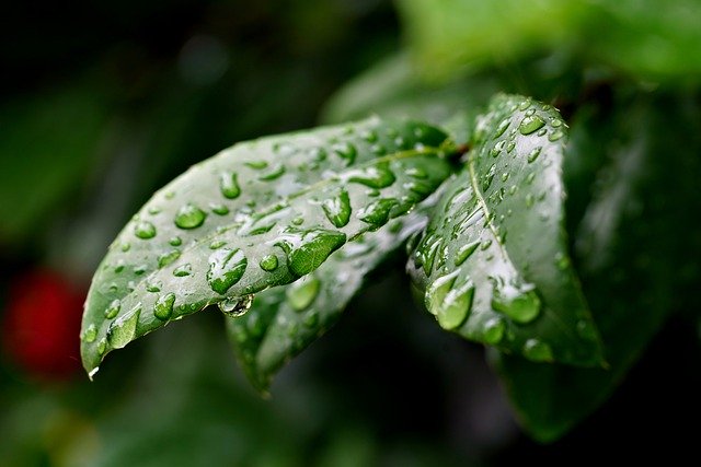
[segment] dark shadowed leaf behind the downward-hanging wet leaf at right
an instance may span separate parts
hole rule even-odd
[[[701,109],[691,102],[636,95],[618,103],[618,143],[598,147],[610,163],[577,234],[577,256],[610,370],[495,355],[521,424],[539,441],[556,440],[604,404],[673,311],[698,308],[701,224],[690,213],[701,212]]]

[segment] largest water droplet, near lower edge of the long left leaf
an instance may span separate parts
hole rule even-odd
[[[301,277],[321,266],[329,255],[345,243],[346,234],[343,232],[315,229],[301,232],[287,230],[276,245],[287,254],[290,271]]]

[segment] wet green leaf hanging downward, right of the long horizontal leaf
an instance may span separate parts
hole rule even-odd
[[[478,120],[407,269],[441,327],[533,361],[600,364],[570,266],[559,113],[501,95]]]

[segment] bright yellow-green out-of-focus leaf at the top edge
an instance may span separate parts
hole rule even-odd
[[[492,62],[532,56],[570,39],[582,1],[400,0],[398,8],[425,78],[445,81]]]

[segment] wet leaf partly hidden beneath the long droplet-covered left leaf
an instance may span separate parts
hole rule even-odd
[[[239,361],[258,390],[266,392],[275,372],[338,320],[370,271],[425,226],[427,201],[361,235],[303,279],[261,292],[245,316],[227,319]]]

